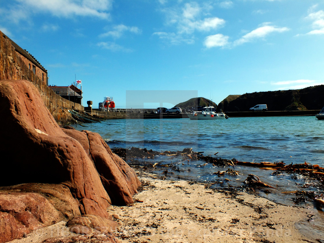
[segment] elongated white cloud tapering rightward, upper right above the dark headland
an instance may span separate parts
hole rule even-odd
[[[246,42],[254,41],[256,39],[265,38],[267,35],[269,35],[270,33],[273,33],[273,32],[281,33],[281,32],[289,30],[286,27],[279,28],[276,26],[271,26],[271,25],[269,25],[269,23],[264,23],[264,24],[265,24],[264,26],[254,29],[251,32],[249,32],[248,34],[244,35],[242,38],[234,41],[234,45],[237,46],[237,45],[241,45]]]

